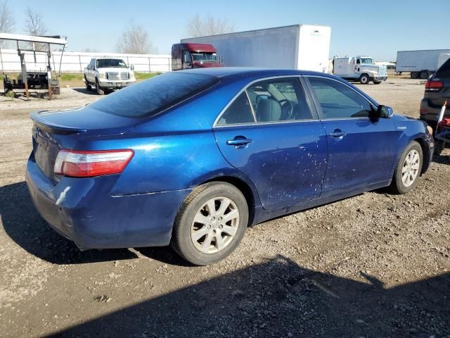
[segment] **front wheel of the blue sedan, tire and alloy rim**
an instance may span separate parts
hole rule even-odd
[[[413,141],[401,154],[394,170],[390,189],[394,194],[406,194],[416,186],[423,166],[423,151],[418,142]]]

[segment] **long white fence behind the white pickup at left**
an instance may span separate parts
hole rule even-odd
[[[82,73],[91,58],[122,58],[127,64],[134,65],[134,71],[141,73],[169,72],[172,70],[172,58],[166,54],[117,54],[117,53],[85,53],[65,51],[61,58],[60,51],[51,52],[51,68],[56,72],[61,67],[63,73]],[[25,51],[27,70],[46,71],[46,53]],[[61,63],[61,64],[60,64]],[[20,57],[15,49],[0,49],[0,66],[4,72],[20,72]]]

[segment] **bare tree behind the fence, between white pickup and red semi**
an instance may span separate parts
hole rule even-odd
[[[122,37],[117,42],[117,51],[127,54],[148,54],[154,53],[155,49],[148,38],[148,33],[141,25],[131,23],[125,28]]]

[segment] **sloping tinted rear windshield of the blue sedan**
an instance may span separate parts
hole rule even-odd
[[[127,118],[147,118],[219,82],[218,77],[165,73],[105,96],[90,107]]]

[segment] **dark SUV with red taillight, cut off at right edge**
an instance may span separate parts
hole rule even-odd
[[[445,117],[450,118],[450,58],[425,84],[425,95],[420,102],[420,120],[425,120],[435,129],[445,101],[447,101]]]

